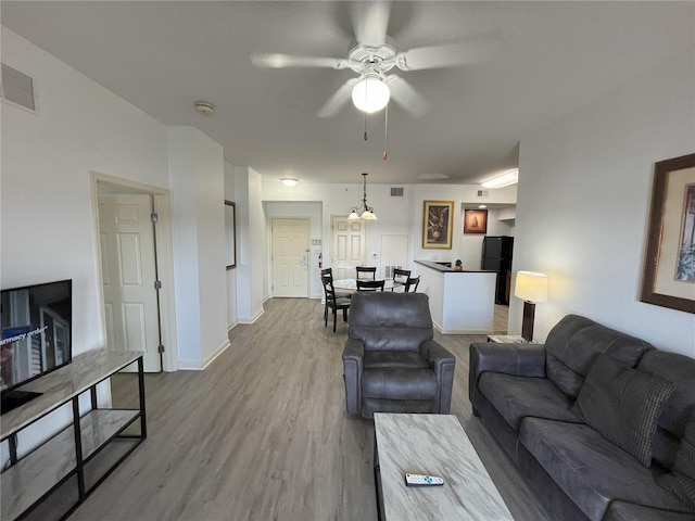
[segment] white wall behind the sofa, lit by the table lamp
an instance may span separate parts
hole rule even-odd
[[[639,297],[654,163],[693,153],[694,77],[684,53],[521,140],[514,270],[548,275],[536,338],[577,313],[695,356],[695,316]]]

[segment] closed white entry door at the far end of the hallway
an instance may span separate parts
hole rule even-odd
[[[273,296],[308,296],[308,219],[273,219]]]

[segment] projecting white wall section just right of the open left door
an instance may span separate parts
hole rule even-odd
[[[203,369],[229,345],[223,149],[194,127],[169,127],[179,367]]]

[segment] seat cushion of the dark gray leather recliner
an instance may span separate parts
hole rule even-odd
[[[365,368],[362,374],[362,395],[367,398],[434,399],[438,393],[437,376],[429,368]]]

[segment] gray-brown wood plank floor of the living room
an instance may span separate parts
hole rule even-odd
[[[270,300],[205,371],[147,374],[148,440],[71,519],[376,520],[374,424],[344,412],[346,325],[330,326],[317,300]],[[515,520],[548,520],[471,415],[468,345],[484,336],[435,338],[457,358],[452,414]],[[116,405],[137,404],[134,378],[117,377]]]

